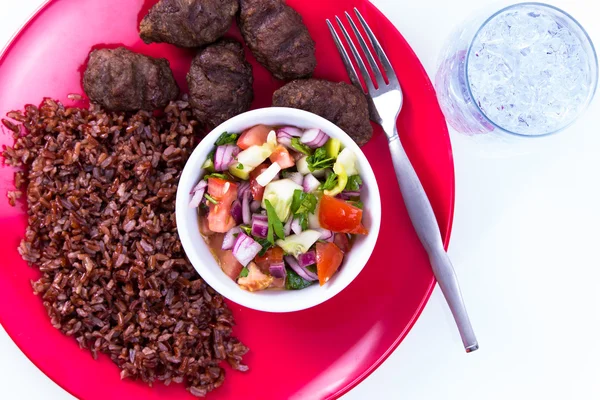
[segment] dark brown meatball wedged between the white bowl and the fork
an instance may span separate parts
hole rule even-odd
[[[344,82],[293,81],[273,94],[273,105],[320,115],[342,128],[359,146],[373,136],[367,98],[360,89]]]

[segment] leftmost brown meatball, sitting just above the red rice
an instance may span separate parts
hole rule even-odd
[[[179,95],[166,59],[148,57],[124,47],[90,53],[83,89],[92,102],[113,111],[164,108]]]

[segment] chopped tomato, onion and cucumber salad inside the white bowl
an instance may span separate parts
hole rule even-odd
[[[242,289],[321,286],[365,235],[356,155],[320,129],[223,133],[190,207],[223,272]]]

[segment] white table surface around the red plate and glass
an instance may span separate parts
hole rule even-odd
[[[0,46],[42,2],[0,1]],[[487,3],[373,2],[430,76],[444,39],[465,13]],[[575,16],[600,47],[594,0],[550,2]],[[452,133],[449,252],[481,349],[464,353],[436,289],[400,347],[345,400],[600,399],[599,115],[596,98],[568,130],[516,156],[482,154],[480,144]],[[0,399],[72,398],[0,328]]]

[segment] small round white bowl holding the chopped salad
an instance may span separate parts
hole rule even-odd
[[[199,182],[202,164],[214,143],[223,132],[241,132],[254,125],[291,125],[299,128],[320,128],[330,137],[339,139],[358,158],[364,186],[361,201],[364,204],[363,223],[369,234],[359,236],[345,256],[340,270],[324,286],[318,284],[302,290],[267,290],[247,292],[241,289],[221,270],[198,229],[196,209],[188,206],[190,191]],[[189,158],[177,189],[177,230],[185,253],[200,276],[224,297],[248,308],[269,312],[298,311],[316,306],[341,292],[363,269],[377,241],[381,224],[381,200],[373,170],[367,158],[354,141],[336,125],[318,115],[292,108],[263,108],[240,114],[222,123],[209,133]]]

